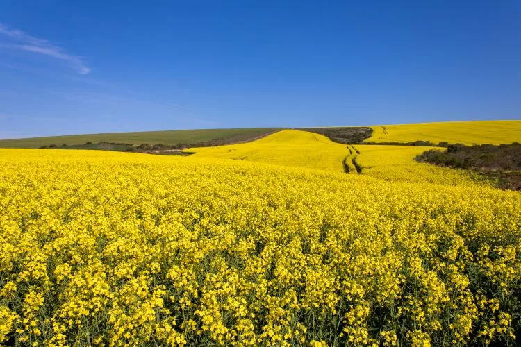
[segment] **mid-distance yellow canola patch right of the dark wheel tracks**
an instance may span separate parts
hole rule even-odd
[[[440,147],[387,146],[377,144],[353,145],[360,154],[356,162],[362,174],[387,181],[435,183],[440,185],[474,185],[479,176],[469,171],[438,167],[429,163],[416,162],[414,158],[429,149]],[[481,178],[486,183],[484,178]]]

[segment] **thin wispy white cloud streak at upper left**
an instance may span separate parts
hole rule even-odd
[[[49,42],[49,40],[40,39],[31,36],[24,31],[9,28],[3,23],[0,23],[0,35],[17,42],[16,44],[3,44],[3,47],[19,49],[21,51],[38,53],[44,56],[65,60],[82,75],[86,75],[91,71],[90,67],[85,65],[85,62],[83,62],[81,57],[72,56],[71,54],[66,53],[63,47],[58,46],[58,44],[53,44]]]

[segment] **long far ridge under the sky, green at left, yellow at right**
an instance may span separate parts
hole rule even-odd
[[[160,130],[133,133],[100,133],[0,139],[0,148],[40,148],[74,146],[78,149],[126,150],[125,146],[163,145],[166,148],[220,146],[251,142],[287,128],[230,128]],[[446,121],[436,123],[395,124],[383,126],[331,126],[295,128],[325,135],[342,144],[511,144],[521,141],[521,120],[511,121]],[[97,146],[93,146],[97,145]],[[103,146],[101,146],[103,145]],[[111,145],[111,146],[108,146]]]

